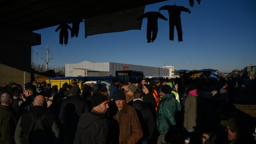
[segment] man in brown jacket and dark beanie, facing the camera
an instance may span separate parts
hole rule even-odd
[[[136,110],[125,102],[125,93],[119,89],[114,93],[118,108],[114,119],[119,122],[119,144],[135,144],[142,136],[142,128]]]

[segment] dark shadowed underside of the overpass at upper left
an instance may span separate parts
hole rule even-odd
[[[1,0],[0,25],[34,31],[166,0]]]

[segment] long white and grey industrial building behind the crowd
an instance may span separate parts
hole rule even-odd
[[[168,68],[167,68],[168,67]],[[172,69],[169,69],[172,67]],[[145,77],[162,76],[174,78],[174,66],[150,67],[141,65],[131,65],[113,62],[90,62],[82,61],[76,64],[65,64],[65,76],[116,76],[116,71],[136,70],[143,71]]]

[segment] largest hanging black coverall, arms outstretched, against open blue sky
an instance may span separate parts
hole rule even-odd
[[[178,33],[178,41],[183,41],[182,39],[182,28],[181,28],[181,18],[180,12],[191,12],[188,8],[183,6],[176,6],[176,5],[165,5],[160,7],[160,10],[168,10],[169,13],[169,39],[173,40],[174,38],[174,26],[176,26],[177,33]]]

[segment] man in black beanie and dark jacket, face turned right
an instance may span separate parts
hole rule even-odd
[[[101,93],[93,93],[92,107],[91,112],[83,113],[80,116],[74,144],[106,144],[109,141],[109,121],[102,117],[102,114],[106,113],[109,108],[108,98]]]

